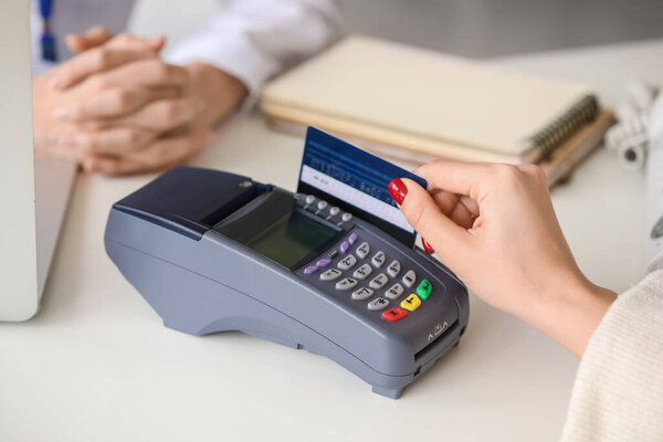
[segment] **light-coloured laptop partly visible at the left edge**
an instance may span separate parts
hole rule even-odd
[[[30,2],[0,1],[0,320],[39,311],[76,165],[34,158]]]

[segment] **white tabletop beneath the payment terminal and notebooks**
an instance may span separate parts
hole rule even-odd
[[[663,81],[663,41],[497,63],[587,81],[611,104],[631,78]],[[235,118],[194,165],[294,189],[302,148],[257,116]],[[558,438],[578,361],[474,296],[461,345],[399,400],[305,351],[165,328],[103,248],[112,203],[152,177],[77,177],[41,313],[0,324],[0,441]],[[593,282],[624,291],[643,276],[643,193],[642,173],[604,150],[554,191]]]

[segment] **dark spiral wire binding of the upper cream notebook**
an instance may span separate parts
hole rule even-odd
[[[529,138],[532,146],[541,152],[540,159],[545,159],[578,129],[593,122],[598,114],[599,102],[597,97],[587,95],[562,116],[547,125],[543,130],[534,134]]]

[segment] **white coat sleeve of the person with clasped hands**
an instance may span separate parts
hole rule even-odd
[[[323,50],[341,34],[332,0],[233,0],[167,56],[201,62],[239,78],[253,103],[265,80]]]

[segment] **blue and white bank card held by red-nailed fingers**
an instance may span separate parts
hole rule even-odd
[[[308,127],[297,191],[349,210],[412,248],[417,232],[387,189],[394,178],[409,178],[424,189],[428,187],[423,178]]]

